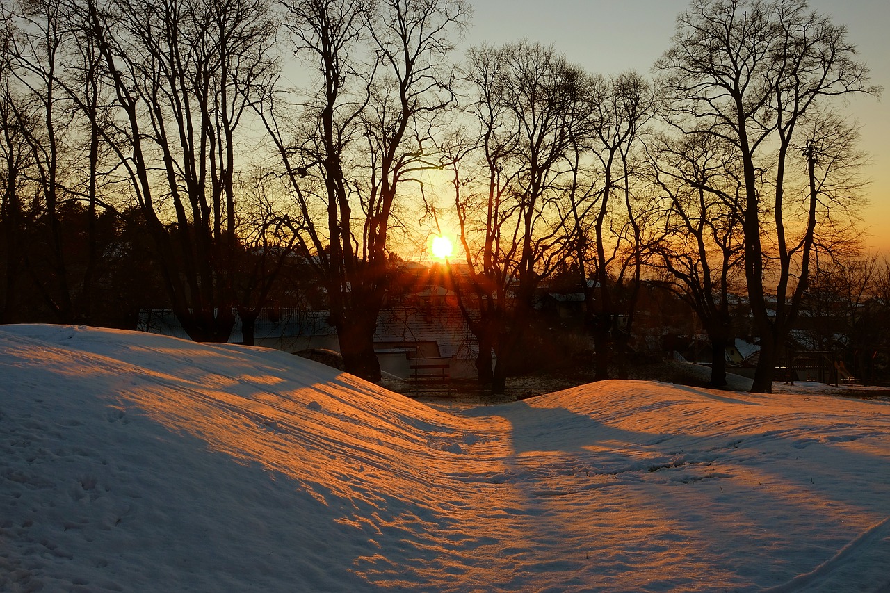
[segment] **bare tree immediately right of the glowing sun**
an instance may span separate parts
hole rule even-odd
[[[553,48],[521,42],[472,49],[466,82],[479,125],[475,168],[483,188],[455,193],[471,271],[466,292],[478,311],[467,319],[480,344],[480,378],[490,377],[494,393],[503,393],[535,291],[566,245],[557,201],[570,173],[572,139],[588,125],[589,81]],[[498,361],[490,373],[492,347]]]

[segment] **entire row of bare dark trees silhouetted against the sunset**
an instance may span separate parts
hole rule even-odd
[[[451,281],[496,392],[538,289],[566,269],[595,378],[611,362],[626,376],[639,289],[659,279],[700,317],[715,386],[732,297],[747,296],[753,389],[769,392],[810,285],[856,267],[862,155],[837,104],[878,89],[845,28],[805,0],[693,0],[649,79],[591,74],[530,41],[457,63],[471,13],[465,0],[4,4],[0,321],[124,324],[114,303],[163,299],[200,341],[228,339],[237,311],[249,343],[296,257],[326,292],[347,370],[376,380],[392,255],[423,241],[412,221],[451,217],[467,271]],[[449,189],[434,195],[431,171]]]

